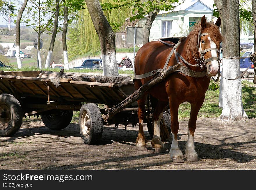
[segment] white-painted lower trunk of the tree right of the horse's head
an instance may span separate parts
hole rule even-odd
[[[230,69],[232,68],[232,69]],[[223,77],[234,79],[240,74],[240,62],[238,59],[223,58]],[[222,82],[222,113],[221,119],[225,120],[239,120],[241,118],[248,118],[243,110],[242,103],[242,85],[241,78],[237,80],[227,80],[224,78]]]

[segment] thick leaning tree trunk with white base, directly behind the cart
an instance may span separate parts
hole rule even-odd
[[[85,0],[93,21],[94,28],[99,36],[103,75],[118,76],[115,53],[115,34],[107,21],[99,0]]]

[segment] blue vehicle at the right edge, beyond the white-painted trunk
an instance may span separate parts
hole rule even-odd
[[[252,55],[254,53],[254,47],[250,50],[245,52],[242,57],[250,57],[250,55]],[[244,59],[240,59],[240,71],[241,73],[243,71],[245,71],[251,64],[251,60],[250,58],[244,58]],[[254,65],[252,63],[252,65],[250,66],[250,68],[247,70],[246,73],[243,74],[244,78],[248,78],[249,75],[254,74]]]

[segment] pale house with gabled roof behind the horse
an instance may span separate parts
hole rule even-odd
[[[207,21],[216,21],[213,17],[214,0],[184,0],[173,11],[160,11],[152,23],[149,41],[170,37],[187,36],[198,20],[205,15]],[[146,17],[138,22],[138,26],[145,26]],[[240,42],[253,42],[253,30],[240,33]]]

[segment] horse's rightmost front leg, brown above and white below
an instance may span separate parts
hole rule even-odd
[[[196,128],[196,120],[198,112],[204,102],[204,98],[198,102],[191,103],[189,126],[188,126],[188,140],[185,146],[185,158],[187,161],[198,161],[197,153],[195,152],[194,134]]]

